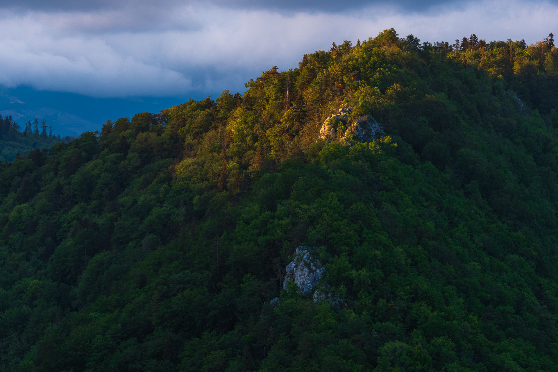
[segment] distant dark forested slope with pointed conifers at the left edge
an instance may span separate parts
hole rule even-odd
[[[33,128],[34,127],[34,128]],[[55,143],[71,142],[75,139],[73,136],[60,137],[54,135],[52,125],[47,125],[43,119],[39,123],[39,119],[35,118],[33,123],[27,121],[25,128],[13,121],[11,116],[2,118],[0,115],[0,161],[13,161],[16,156],[25,157],[27,152],[35,148],[48,149]]]

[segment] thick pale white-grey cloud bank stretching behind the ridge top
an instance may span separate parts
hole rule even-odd
[[[273,65],[294,68],[302,54],[329,49],[332,41],[364,40],[386,28],[431,42],[476,33],[487,41],[530,43],[556,31],[550,28],[558,16],[554,3],[518,0],[338,13],[318,11],[317,2],[306,3],[314,4],[311,11],[294,12],[173,0],[167,7],[93,4],[93,10],[0,9],[0,84],[99,97],[218,94],[242,91]]]

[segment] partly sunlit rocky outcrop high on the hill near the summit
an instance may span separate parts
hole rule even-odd
[[[370,115],[363,115],[349,123],[349,114],[352,111],[353,109],[349,107],[339,109],[336,114],[329,115],[321,126],[318,138],[341,142],[351,140],[370,142],[386,135],[382,125]],[[339,131],[339,128],[343,128],[343,130]]]

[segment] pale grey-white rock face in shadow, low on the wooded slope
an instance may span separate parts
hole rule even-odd
[[[299,293],[307,296],[324,277],[324,272],[325,268],[320,265],[318,260],[312,258],[306,247],[298,247],[292,262],[287,265],[283,289],[287,287],[287,282],[292,280],[299,286]]]

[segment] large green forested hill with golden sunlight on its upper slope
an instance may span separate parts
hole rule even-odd
[[[558,51],[473,36],[0,163],[0,370],[556,371]],[[282,288],[297,247],[323,296]]]

